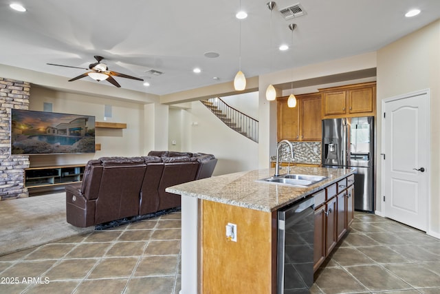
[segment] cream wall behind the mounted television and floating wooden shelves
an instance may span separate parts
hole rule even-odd
[[[31,156],[31,166],[65,165],[84,163],[102,156],[144,155],[144,132],[140,126],[144,120],[144,105],[109,98],[72,94],[33,86],[30,93],[30,110],[43,111],[43,103],[52,103],[53,112],[85,114],[104,121],[104,105],[111,105],[112,116],[107,122],[126,123],[126,129],[96,129],[96,143],[101,150],[95,154],[62,154]]]

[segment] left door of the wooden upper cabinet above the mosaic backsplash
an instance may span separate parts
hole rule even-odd
[[[286,139],[296,141],[299,139],[299,110],[297,107],[288,107],[287,98],[281,98],[277,101],[278,119],[278,142]]]

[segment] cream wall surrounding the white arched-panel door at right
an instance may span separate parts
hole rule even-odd
[[[440,238],[440,20],[377,51],[377,113],[382,100],[430,89],[430,218],[428,230]],[[382,117],[382,116],[381,116]],[[378,138],[382,121],[377,120]],[[378,140],[377,152],[382,144]],[[377,160],[377,210],[382,210],[382,162]]]

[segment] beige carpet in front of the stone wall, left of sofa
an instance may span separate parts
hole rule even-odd
[[[94,231],[66,222],[65,192],[0,201],[0,255]]]

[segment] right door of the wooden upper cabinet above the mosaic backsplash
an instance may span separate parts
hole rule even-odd
[[[320,141],[321,127],[321,95],[311,95],[300,101],[300,140]]]

